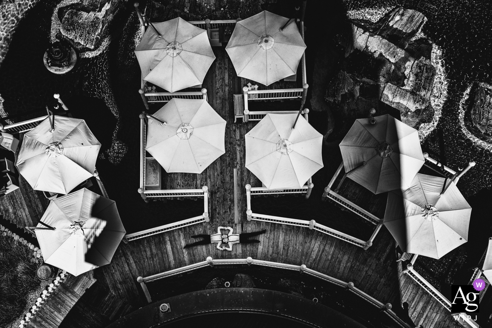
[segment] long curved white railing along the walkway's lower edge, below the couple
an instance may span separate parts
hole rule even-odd
[[[262,261],[262,260],[255,260],[252,259],[251,257],[248,257],[246,259],[212,259],[212,257],[207,257],[205,261],[198,262],[195,264],[191,264],[189,266],[185,266],[182,268],[176,268],[172,269],[169,271],[165,271],[162,273],[157,273],[154,275],[150,275],[147,277],[138,277],[137,282],[140,283],[140,286],[142,287],[142,290],[147,298],[147,301],[150,303],[152,302],[151,295],[149,293],[149,290],[147,288],[146,283],[152,282],[158,279],[170,277],[176,274],[181,274],[184,272],[196,270],[198,268],[204,268],[207,266],[220,266],[220,265],[256,265],[256,266],[262,266],[262,267],[269,267],[269,268],[281,268],[281,269],[287,269],[287,270],[295,270],[299,271],[301,273],[309,274],[313,277],[317,277],[320,279],[323,279],[327,282],[333,283],[335,285],[338,285],[340,287],[346,288],[350,292],[354,293],[355,295],[359,296],[360,298],[365,299],[368,301],[370,304],[376,306],[379,310],[384,311],[386,315],[388,315],[391,319],[395,321],[400,327],[402,328],[413,328],[409,326],[407,323],[405,323],[403,320],[401,320],[395,312],[391,310],[391,304],[390,303],[382,303],[378,301],[377,299],[369,296],[367,293],[363,292],[359,288],[355,287],[352,282],[344,282],[342,280],[339,280],[337,278],[331,277],[327,274],[315,271],[313,269],[307,268],[306,265],[292,265],[292,264],[285,264],[285,263],[278,263],[278,262],[270,262],[270,261]]]

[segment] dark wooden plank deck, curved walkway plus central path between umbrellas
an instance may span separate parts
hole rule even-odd
[[[223,47],[215,47],[214,53],[216,60],[204,80],[203,87],[208,90],[211,106],[227,120],[226,153],[200,175],[164,175],[164,187],[168,189],[209,186],[211,222],[138,239],[128,244],[121,243],[112,263],[94,270],[94,278],[97,279],[97,283],[93,285],[97,286],[94,291],[89,285],[86,285],[84,290],[84,288],[77,289],[78,287],[75,288],[69,283],[65,284],[43,304],[47,310],[53,311],[43,314],[44,310],[41,310],[38,312],[39,315],[36,314],[33,320],[33,323],[36,323],[35,327],[105,327],[112,320],[127,313],[130,306],[139,308],[146,304],[140,285],[136,282],[138,276],[180,268],[203,261],[207,256],[213,258],[250,256],[259,260],[305,264],[308,268],[340,280],[352,281],[355,286],[374,298],[392,303],[397,313],[402,312],[398,309],[400,302],[407,301],[410,304],[410,317],[417,325],[439,327],[443,322],[442,327],[459,327],[442,305],[408,275],[401,273],[400,265],[396,262],[395,242],[385,228],[381,229],[374,240],[374,245],[364,251],[360,247],[314,230],[246,220],[244,187],[247,183],[252,186],[261,185],[261,182],[245,168],[244,135],[256,122],[233,123],[233,94],[240,93],[241,88],[249,81],[236,76]],[[280,82],[270,86],[272,89],[284,87],[292,88],[296,85],[292,82]],[[138,151],[138,149],[128,151]],[[339,159],[337,161],[334,166],[325,165],[327,168],[332,166],[336,168]],[[234,169],[237,170],[236,185]],[[311,197],[321,197],[320,190],[331,178],[330,172],[333,175],[333,171],[324,170],[314,177],[316,189],[313,190]],[[350,185],[345,182],[341,190],[349,193]],[[238,190],[237,209],[234,205],[234,187]],[[354,184],[353,187],[358,186]],[[45,207],[43,208],[42,199],[37,193],[26,192],[28,188],[23,188],[24,191],[21,189],[12,196],[8,195],[11,197],[0,198],[0,210],[4,216],[10,217],[10,220],[17,222],[19,226],[25,226],[28,220],[31,220],[32,224],[35,223]],[[134,191],[131,189],[126,192]],[[274,203],[276,198],[271,198],[271,201]],[[12,204],[15,204],[15,207]],[[276,213],[265,214],[276,215]],[[330,213],[327,212],[326,215],[329,216]],[[212,234],[216,232],[219,225],[229,225],[236,233],[262,229],[266,229],[267,233],[259,237],[259,244],[234,245],[232,252],[219,251],[213,245],[183,249],[186,243],[192,241],[192,235]],[[105,289],[110,294],[106,293],[109,296],[103,298]],[[104,308],[103,304],[107,307]],[[49,313],[52,313],[51,316]]]

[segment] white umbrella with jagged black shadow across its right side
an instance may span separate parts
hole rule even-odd
[[[56,198],[35,230],[44,262],[79,275],[111,262],[124,230],[116,203],[84,188]]]

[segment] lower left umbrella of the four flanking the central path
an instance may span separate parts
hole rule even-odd
[[[173,98],[149,118],[146,149],[168,173],[202,173],[225,153],[225,124],[205,99]]]

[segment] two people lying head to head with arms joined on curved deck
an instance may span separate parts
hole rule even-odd
[[[222,233],[221,230],[226,230],[226,233]],[[259,240],[248,239],[248,238],[264,234],[266,230],[244,233],[244,234],[233,234],[232,232],[233,232],[233,228],[231,227],[218,227],[217,233],[214,235],[191,236],[192,238],[203,238],[203,240],[195,241],[191,244],[185,245],[184,248],[188,248],[196,245],[206,245],[212,242],[216,242],[217,249],[232,251],[232,245],[239,242],[242,243],[260,242]]]

